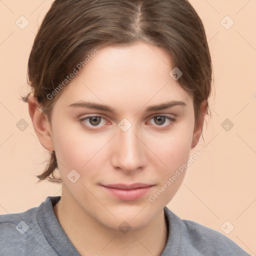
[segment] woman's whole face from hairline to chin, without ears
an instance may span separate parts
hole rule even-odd
[[[69,204],[105,226],[136,229],[182,182],[184,172],[169,178],[189,158],[193,99],[169,75],[163,49],[137,42],[98,50],[53,107],[52,143]]]

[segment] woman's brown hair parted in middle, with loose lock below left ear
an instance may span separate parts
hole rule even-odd
[[[84,63],[87,54],[100,46],[140,40],[165,49],[173,67],[182,71],[178,83],[193,96],[196,126],[203,118],[202,101],[209,114],[212,65],[204,26],[188,0],[54,0],[29,55],[31,91],[21,99],[27,102],[32,94],[51,124],[52,108],[63,92],[61,82],[78,63]],[[54,97],[53,91],[57,92]],[[61,177],[54,175],[55,151],[49,153],[37,182],[61,183]]]

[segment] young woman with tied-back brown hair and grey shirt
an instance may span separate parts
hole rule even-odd
[[[55,0],[23,100],[51,154],[37,177],[61,182],[61,197],[1,215],[1,253],[248,255],[165,207],[201,135],[211,77],[187,0]]]

